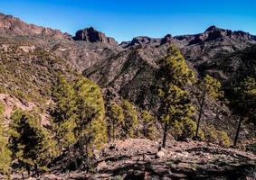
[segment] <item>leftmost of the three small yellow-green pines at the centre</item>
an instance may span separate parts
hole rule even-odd
[[[120,138],[121,128],[124,125],[124,112],[118,103],[109,104],[109,136],[110,139]]]

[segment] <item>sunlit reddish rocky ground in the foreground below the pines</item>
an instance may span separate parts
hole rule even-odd
[[[92,173],[48,173],[38,179],[256,179],[256,156],[203,142],[148,139],[110,142],[100,151]]]

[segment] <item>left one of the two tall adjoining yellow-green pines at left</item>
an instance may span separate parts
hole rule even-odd
[[[62,148],[70,149],[71,144],[75,143],[74,129],[77,117],[75,91],[64,76],[58,76],[52,97],[55,103],[52,110],[52,127],[59,151],[62,152]]]

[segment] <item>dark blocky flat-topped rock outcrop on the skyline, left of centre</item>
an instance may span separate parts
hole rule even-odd
[[[92,27],[77,31],[73,39],[85,40],[88,42],[103,42],[111,45],[118,45],[115,39],[107,37],[104,33],[100,31],[96,31]]]

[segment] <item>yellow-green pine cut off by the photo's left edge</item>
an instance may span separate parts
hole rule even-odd
[[[0,103],[0,174],[3,174],[8,178],[9,166],[11,165],[11,151],[7,148],[8,137],[3,118],[4,112],[5,106]]]

